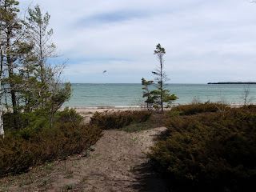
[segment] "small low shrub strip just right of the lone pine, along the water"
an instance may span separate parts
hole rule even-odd
[[[176,115],[191,115],[191,114],[201,114],[206,112],[216,112],[229,109],[230,106],[220,102],[199,102],[189,105],[178,105],[174,106],[172,110],[166,111],[166,114],[169,116]]]

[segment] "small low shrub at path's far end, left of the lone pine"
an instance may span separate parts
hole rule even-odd
[[[98,126],[103,130],[120,129],[124,126],[129,126],[132,123],[146,122],[152,112],[146,110],[126,110],[111,112],[96,112],[90,118],[90,124]]]

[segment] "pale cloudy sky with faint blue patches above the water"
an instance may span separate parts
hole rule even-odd
[[[252,0],[20,0],[50,14],[72,83],[153,80],[158,43],[170,83],[256,82]],[[103,71],[106,70],[106,73]]]

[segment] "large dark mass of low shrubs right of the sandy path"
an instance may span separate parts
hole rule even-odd
[[[174,190],[249,191],[256,179],[255,106],[166,120],[148,154]]]

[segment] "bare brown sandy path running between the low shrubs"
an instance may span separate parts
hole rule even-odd
[[[94,113],[82,110],[86,122]],[[95,150],[0,180],[0,191],[167,191],[148,166],[146,153],[154,138],[166,130],[158,127],[137,133],[105,130]]]

